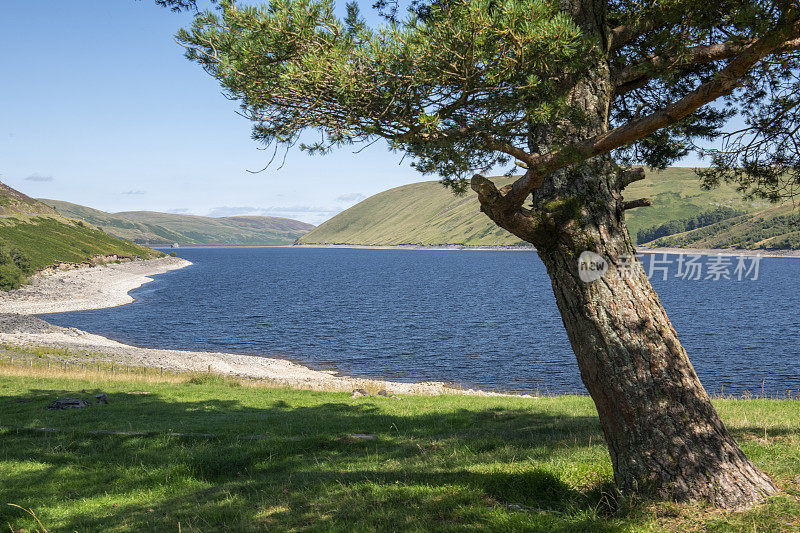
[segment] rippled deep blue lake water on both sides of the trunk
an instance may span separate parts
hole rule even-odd
[[[584,391],[535,252],[177,252],[194,264],[132,291],[133,304],[43,318],[136,346],[283,357],[348,375]],[[751,271],[737,281],[733,259],[732,279],[715,281],[676,277],[677,256],[656,258],[669,264],[654,265],[663,270],[653,284],[707,390],[758,394],[762,380],[769,394],[800,389],[800,260],[765,258],[757,280]]]

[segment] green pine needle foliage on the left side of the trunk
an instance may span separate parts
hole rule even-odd
[[[178,38],[242,100],[254,138],[291,144],[315,130],[301,145],[313,153],[382,137],[443,176],[506,162],[493,143],[525,143],[531,122],[566,119],[558,84],[588,50],[541,0],[457,0],[377,30],[355,4],[338,20],[331,0],[221,8]]]

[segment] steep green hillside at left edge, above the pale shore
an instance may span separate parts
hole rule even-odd
[[[0,289],[15,288],[26,276],[58,262],[78,263],[101,255],[150,258],[163,254],[64,217],[0,184]]]

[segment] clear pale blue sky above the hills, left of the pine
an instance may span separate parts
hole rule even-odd
[[[173,35],[190,16],[151,0],[16,0],[3,22],[0,179],[30,196],[319,224],[377,192],[433,179],[381,142],[359,154],[293,150],[280,169],[248,172],[271,152],[184,59]]]

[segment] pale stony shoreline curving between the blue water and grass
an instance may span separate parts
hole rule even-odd
[[[392,394],[509,396],[464,390],[442,382],[404,383],[347,377],[337,372],[313,370],[285,359],[255,355],[139,348],[76,328],[55,326],[33,316],[124,305],[134,301],[128,294],[130,290],[152,281],[149,276],[189,265],[189,261],[166,257],[35,276],[30,284],[16,291],[0,293],[0,343],[62,348],[82,354],[83,362],[109,362],[173,372],[212,372],[312,390],[367,389],[375,392],[383,389]]]

